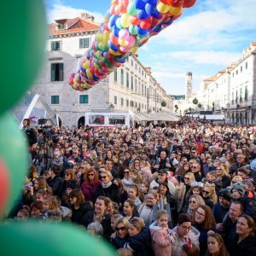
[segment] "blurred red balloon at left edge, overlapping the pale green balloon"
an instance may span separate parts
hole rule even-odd
[[[9,172],[0,159],[0,216],[4,212],[9,199]]]

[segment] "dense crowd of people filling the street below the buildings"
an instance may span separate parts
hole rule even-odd
[[[119,255],[256,252],[256,127],[24,123],[31,168],[9,220],[72,222]]]

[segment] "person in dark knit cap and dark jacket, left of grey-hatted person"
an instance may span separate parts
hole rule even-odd
[[[212,208],[212,214],[216,223],[221,223],[224,216],[230,210],[232,195],[230,189],[221,189],[218,194],[218,202]]]

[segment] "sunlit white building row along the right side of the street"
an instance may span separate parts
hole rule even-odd
[[[201,82],[202,109],[224,114],[226,123],[256,124],[256,43],[244,49],[241,59]]]

